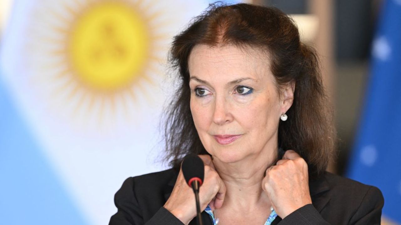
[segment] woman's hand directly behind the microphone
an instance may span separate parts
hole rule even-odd
[[[205,164],[205,177],[199,188],[199,201],[201,210],[209,204],[212,209],[223,205],[226,187],[219,174],[217,174],[209,155],[199,155]],[[164,204],[170,213],[177,217],[182,223],[188,224],[196,216],[195,195],[185,181],[182,170],[178,174],[174,189]]]

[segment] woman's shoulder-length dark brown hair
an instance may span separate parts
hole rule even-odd
[[[300,42],[290,17],[277,8],[251,4],[212,4],[174,37],[169,60],[179,72],[180,87],[178,98],[170,104],[164,130],[170,165],[179,167],[189,153],[208,154],[190,112],[188,57],[197,44],[249,46],[266,52],[277,91],[295,82],[288,120],[279,122],[278,146],[293,149],[305,159],[310,179],[326,170],[336,135],[316,53]]]

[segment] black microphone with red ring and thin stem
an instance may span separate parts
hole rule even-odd
[[[201,217],[201,207],[199,203],[199,187],[203,183],[205,175],[205,166],[201,158],[197,155],[187,155],[181,164],[182,174],[184,175],[186,183],[195,194],[196,212],[198,213],[198,225],[203,225]]]

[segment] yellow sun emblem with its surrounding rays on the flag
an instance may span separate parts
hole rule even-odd
[[[154,0],[63,0],[46,6],[32,15],[26,49],[33,59],[32,82],[49,93],[49,108],[78,127],[109,128],[136,123],[147,107],[160,103],[157,87],[174,15]]]

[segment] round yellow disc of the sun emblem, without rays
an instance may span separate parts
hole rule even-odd
[[[94,90],[115,91],[131,84],[149,56],[146,20],[122,2],[103,2],[73,23],[69,61],[79,80]]]

